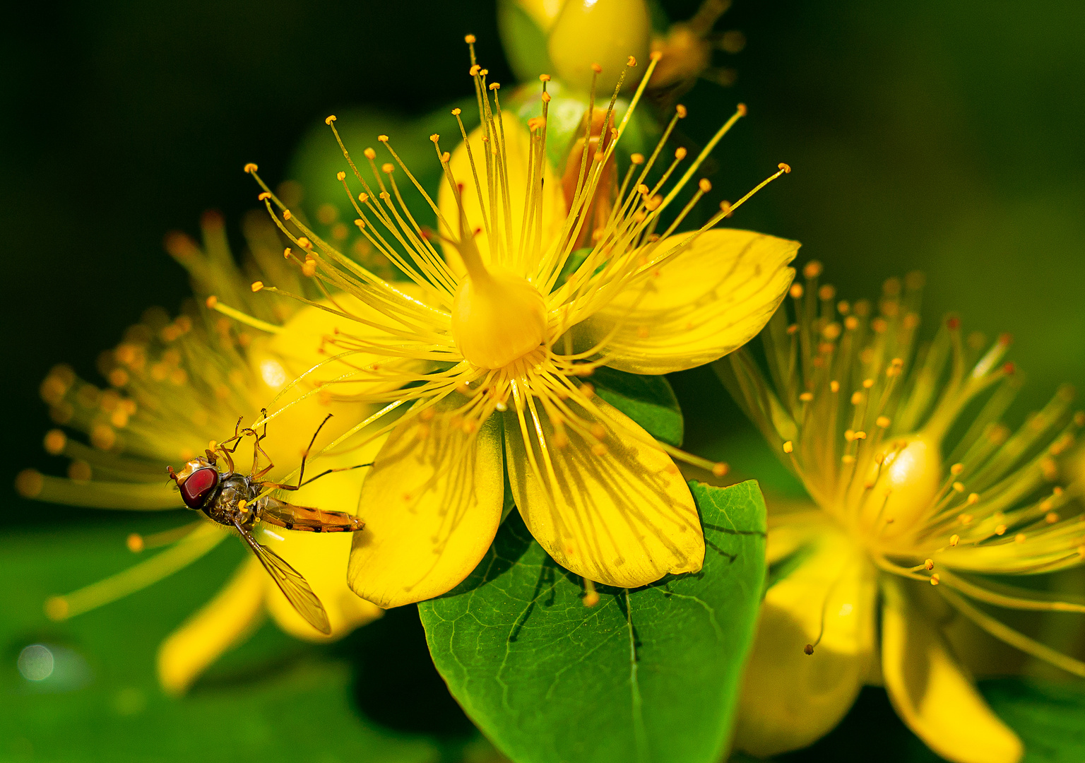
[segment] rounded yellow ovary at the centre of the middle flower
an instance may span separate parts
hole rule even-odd
[[[452,336],[475,366],[505,368],[547,341],[546,303],[522,276],[472,269],[456,290]]]

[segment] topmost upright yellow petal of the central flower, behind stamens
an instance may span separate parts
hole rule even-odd
[[[463,211],[467,214],[468,234],[470,231],[480,230],[475,236],[475,243],[483,262],[489,264],[493,260],[492,249],[494,245],[494,232],[499,233],[499,246],[505,251],[520,251],[520,234],[522,220],[524,217],[524,200],[527,190],[527,168],[531,158],[531,133],[520,123],[520,120],[508,112],[501,114],[501,125],[505,129],[505,149],[508,157],[509,178],[509,215],[506,214],[503,202],[498,199],[494,207],[490,206],[489,188],[486,169],[486,155],[488,152],[486,143],[483,142],[483,128],[478,127],[468,136],[471,145],[471,156],[468,156],[467,145],[460,142],[452,151],[449,160],[449,168],[456,182],[463,187],[461,199],[463,200]],[[492,155],[490,155],[492,156]],[[475,186],[475,176],[472,173],[471,160],[474,160],[475,171],[477,171],[478,187],[482,188],[484,203],[480,203],[478,187]],[[492,156],[493,158],[493,156]],[[542,225],[541,225],[541,246],[540,253],[545,254],[561,233],[565,222],[565,198],[561,190],[561,179],[553,173],[550,165],[545,161],[544,183],[542,183]],[[498,177],[496,168],[493,176]],[[441,234],[449,239],[460,238],[460,213],[456,204],[456,194],[449,188],[448,182],[442,181],[441,192],[437,195],[437,207],[444,219],[451,226],[449,230],[445,225],[441,225]],[[492,208],[496,208],[497,215],[493,215]],[[486,215],[483,215],[486,209]],[[511,225],[510,225],[511,219]],[[535,238],[538,231],[533,231]],[[534,242],[525,246],[528,253],[534,252]],[[459,253],[451,244],[444,243],[445,259],[454,272],[462,275],[465,272],[463,262]],[[499,250],[500,251],[500,250]],[[528,272],[526,266],[529,257],[520,260],[511,260],[508,257],[500,258],[507,267],[510,267],[519,276],[532,278],[534,272]],[[518,267],[519,266],[519,267]]]

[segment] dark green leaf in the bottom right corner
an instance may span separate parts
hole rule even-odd
[[[991,708],[1020,735],[1023,763],[1085,761],[1085,687],[999,678],[980,684]]]

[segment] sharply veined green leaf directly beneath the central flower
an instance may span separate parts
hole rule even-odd
[[[580,580],[510,516],[475,571],[419,607],[452,696],[516,763],[710,763],[730,734],[765,575],[756,482],[690,483],[707,554],[636,590]]]

